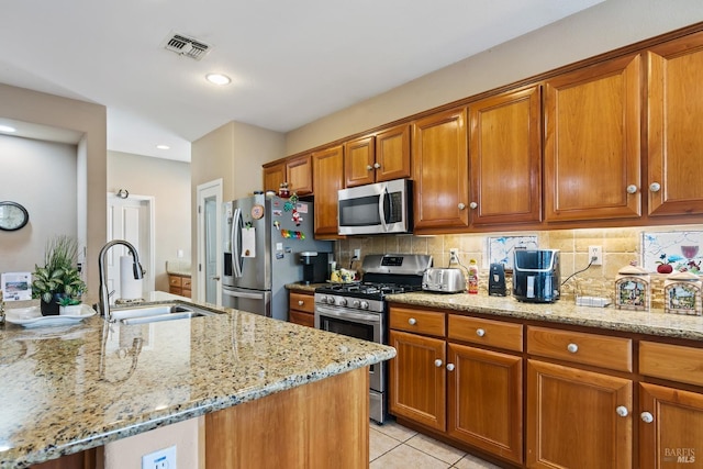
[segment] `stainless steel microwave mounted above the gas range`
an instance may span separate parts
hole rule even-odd
[[[394,179],[342,189],[337,214],[341,235],[411,233],[413,181]]]

